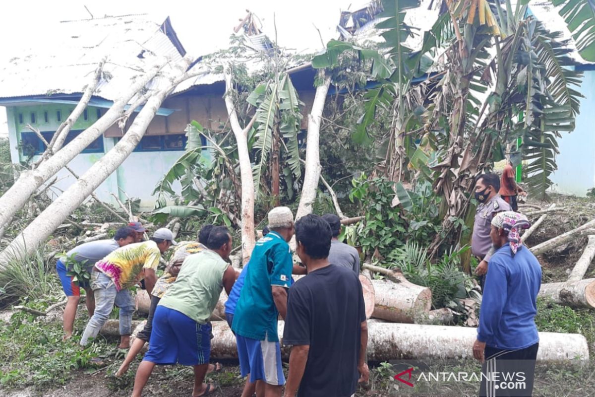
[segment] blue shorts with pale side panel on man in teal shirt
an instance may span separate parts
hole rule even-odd
[[[285,385],[279,342],[250,339],[236,334],[237,358],[242,376],[250,374],[250,382],[264,380],[269,385]]]

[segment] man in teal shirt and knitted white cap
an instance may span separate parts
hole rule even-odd
[[[246,279],[237,302],[231,329],[236,333],[242,376],[250,374],[256,389],[265,397],[280,396],[285,384],[277,317],[285,318],[287,288],[293,270],[289,240],[293,236],[293,214],[287,207],[268,213],[267,236],[256,242]]]

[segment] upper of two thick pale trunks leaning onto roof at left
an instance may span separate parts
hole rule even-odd
[[[137,79],[129,87],[127,92],[114,102],[114,105],[99,120],[95,121],[92,126],[80,133],[72,142],[48,158],[48,160],[39,164],[39,167],[35,170],[22,173],[14,182],[14,185],[0,197],[0,227],[7,223],[18,210],[23,208],[23,205],[26,204],[39,186],[43,185],[43,183],[60,171],[64,165],[68,164],[68,162],[82,152],[84,148],[101,136],[120,117],[127,102],[150,82],[165,64],[165,61],[158,62],[149,68],[147,73]]]

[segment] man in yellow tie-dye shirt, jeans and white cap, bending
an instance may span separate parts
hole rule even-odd
[[[84,329],[80,344],[86,346],[90,337],[96,337],[107,321],[114,304],[120,308],[120,346],[130,346],[134,299],[130,287],[145,280],[149,295],[155,286],[155,270],[161,254],[176,245],[169,229],[158,229],[151,239],[116,249],[98,261],[93,268],[91,287],[95,293],[95,313]]]

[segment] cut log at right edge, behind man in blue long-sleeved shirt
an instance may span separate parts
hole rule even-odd
[[[542,284],[538,296],[560,305],[595,308],[595,279]]]

